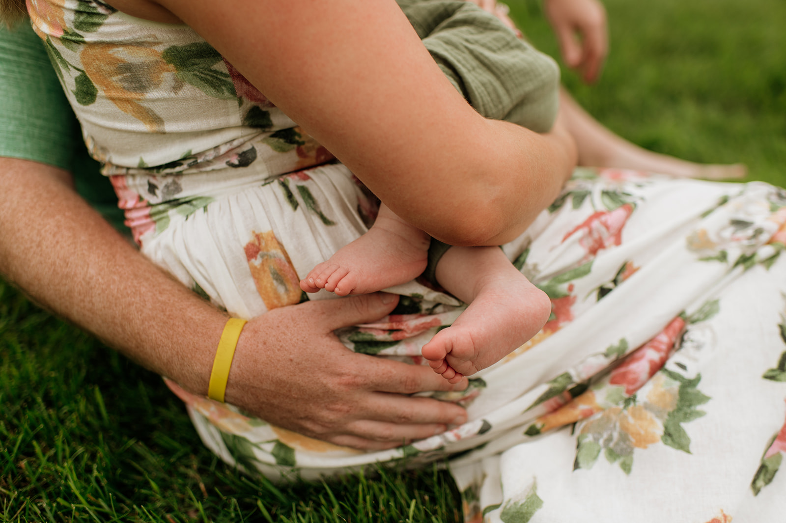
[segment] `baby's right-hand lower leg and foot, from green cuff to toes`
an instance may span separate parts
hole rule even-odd
[[[499,247],[452,247],[436,267],[439,283],[469,306],[423,346],[423,357],[451,383],[497,363],[549,320],[549,297]]]

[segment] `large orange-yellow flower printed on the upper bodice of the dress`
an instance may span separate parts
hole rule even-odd
[[[86,75],[120,111],[144,123],[151,133],[164,132],[163,119],[139,104],[161,86],[164,74],[175,72],[159,51],[145,45],[93,44],[83,47],[79,59]]]

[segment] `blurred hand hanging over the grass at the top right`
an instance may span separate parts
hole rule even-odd
[[[585,82],[601,74],[608,53],[606,9],[598,0],[545,0],[545,14],[560,41],[565,64]]]

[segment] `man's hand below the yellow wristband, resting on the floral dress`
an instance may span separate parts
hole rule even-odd
[[[431,368],[353,353],[333,331],[379,320],[394,294],[367,294],[274,309],[246,324],[226,400],[276,426],[363,449],[393,448],[465,422],[463,408],[409,397],[462,390]]]

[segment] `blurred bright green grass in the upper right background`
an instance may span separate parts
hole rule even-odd
[[[603,0],[608,60],[595,86],[564,84],[606,126],[646,148],[746,163],[786,186],[786,4],[777,0]],[[557,56],[540,0],[512,3],[539,49]]]

